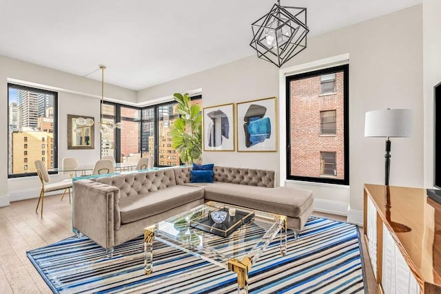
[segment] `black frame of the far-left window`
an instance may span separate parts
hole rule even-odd
[[[9,118],[10,118],[10,113],[9,113],[9,88],[13,87],[14,89],[18,89],[18,90],[25,90],[25,91],[33,91],[33,92],[40,92],[43,94],[50,94],[50,95],[54,95],[54,129],[53,129],[53,136],[54,136],[54,149],[53,149],[53,155],[54,155],[54,169],[56,169],[58,167],[58,146],[59,146],[59,141],[58,141],[58,116],[59,116],[59,109],[58,109],[58,92],[53,92],[53,91],[49,91],[49,90],[44,90],[44,89],[39,89],[36,87],[28,87],[28,86],[24,86],[24,85],[17,85],[14,83],[8,83],[8,136],[9,136]],[[10,158],[12,158],[12,154],[9,154],[9,151],[12,150],[12,148],[10,148],[9,145],[9,138],[8,138],[8,167],[9,167],[9,163],[10,163]],[[12,151],[13,152],[13,151]],[[50,171],[48,170],[49,174],[58,174],[58,171]],[[24,178],[24,177],[29,177],[29,176],[37,176],[37,172],[30,172],[30,173],[21,173],[21,174],[9,174],[9,169],[8,169],[8,178]]]

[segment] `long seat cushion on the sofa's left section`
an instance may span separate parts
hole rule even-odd
[[[160,189],[154,193],[121,198],[119,211],[121,224],[163,213],[169,209],[204,198],[204,190],[183,185]]]

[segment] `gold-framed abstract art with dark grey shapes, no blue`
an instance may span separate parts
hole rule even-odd
[[[203,109],[204,151],[234,151],[234,104]]]

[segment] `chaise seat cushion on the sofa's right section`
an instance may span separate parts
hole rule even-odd
[[[312,192],[291,187],[267,188],[215,182],[206,186],[205,200],[235,204],[297,218],[314,202]]]

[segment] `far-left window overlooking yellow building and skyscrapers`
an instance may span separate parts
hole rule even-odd
[[[8,177],[35,176],[41,159],[57,167],[57,93],[8,84]]]

